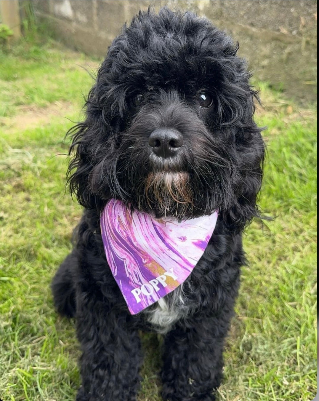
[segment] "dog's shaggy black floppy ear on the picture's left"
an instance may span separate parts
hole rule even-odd
[[[87,209],[97,209],[121,194],[112,168],[117,163],[118,133],[123,130],[127,111],[126,91],[115,74],[114,63],[121,53],[121,40],[115,39],[99,67],[95,85],[85,103],[86,118],[69,130],[73,159],[67,171],[72,194]]]

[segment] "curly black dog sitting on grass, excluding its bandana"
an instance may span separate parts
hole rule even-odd
[[[136,399],[138,331],[149,329],[165,334],[163,399],[214,400],[264,158],[257,95],[237,50],[208,20],[163,8],[124,26],[99,68],[86,119],[72,130],[69,185],[84,215],[52,283],[58,312],[77,319],[78,401]],[[186,282],[136,315],[103,249],[100,213],[111,198],[177,221],[218,210]]]

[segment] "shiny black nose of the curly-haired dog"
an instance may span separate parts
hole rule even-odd
[[[157,156],[166,158],[174,156],[183,145],[183,136],[171,128],[157,128],[149,136],[148,144]]]

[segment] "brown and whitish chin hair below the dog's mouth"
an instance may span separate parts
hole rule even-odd
[[[149,207],[154,202],[160,214],[182,218],[194,207],[187,172],[151,172],[145,180],[145,196]]]

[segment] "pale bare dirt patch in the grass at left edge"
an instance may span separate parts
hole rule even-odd
[[[14,117],[1,117],[0,124],[6,130],[26,130],[40,125],[50,124],[52,118],[66,118],[67,115],[78,111],[71,102],[56,101],[47,107],[22,105],[16,108]]]

